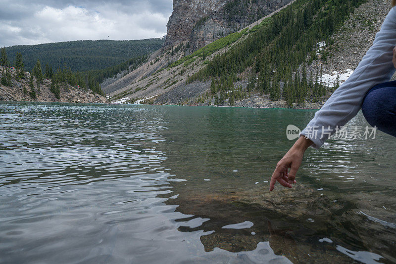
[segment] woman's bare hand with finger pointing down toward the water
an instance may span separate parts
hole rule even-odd
[[[269,184],[270,191],[274,189],[276,181],[288,188],[292,188],[292,184],[297,183],[296,174],[301,165],[302,157],[304,156],[305,150],[312,144],[313,142],[306,139],[303,135],[297,139],[293,147],[276,165],[276,169],[272,174]]]

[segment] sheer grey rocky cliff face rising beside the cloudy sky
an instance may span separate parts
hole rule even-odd
[[[189,41],[193,50],[238,31],[291,0],[173,0],[165,45]]]

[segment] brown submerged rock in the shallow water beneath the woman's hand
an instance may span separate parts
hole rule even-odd
[[[178,204],[177,211],[195,216],[179,221],[205,219],[195,227],[181,223],[179,230],[211,231],[200,238],[205,251],[216,247],[232,252],[251,251],[259,242],[269,241],[277,255],[284,255],[294,263],[308,260],[309,263],[351,263],[360,257],[348,255],[349,251],[370,250],[375,252],[365,253],[374,259],[382,256],[396,261],[392,256],[395,228],[370,221],[356,211],[355,205],[336,203],[301,184],[293,189],[278,186],[273,192],[267,189],[178,191],[178,198],[167,203]],[[252,225],[244,224],[246,221]],[[241,229],[222,228],[230,224]]]

